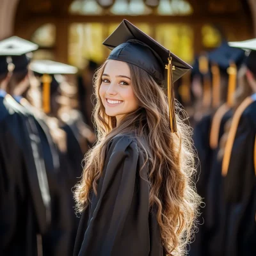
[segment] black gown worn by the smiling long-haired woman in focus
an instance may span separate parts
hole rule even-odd
[[[149,209],[148,165],[129,135],[109,142],[97,196],[83,212],[74,256],[163,256],[156,214]]]

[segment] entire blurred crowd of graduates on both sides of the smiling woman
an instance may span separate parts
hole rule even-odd
[[[202,52],[175,84],[194,128],[204,201],[191,256],[256,255],[256,40],[246,45]],[[72,188],[96,140],[97,63],[77,74],[33,60],[36,49],[16,36],[0,42],[0,255],[72,255]]]

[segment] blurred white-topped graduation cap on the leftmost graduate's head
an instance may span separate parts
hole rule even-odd
[[[12,63],[14,65],[13,72],[27,71],[30,61],[28,53],[37,49],[37,44],[24,40],[18,36],[12,36],[0,42],[0,59],[4,60],[4,58],[10,56],[12,57]],[[0,68],[0,70],[3,68]]]

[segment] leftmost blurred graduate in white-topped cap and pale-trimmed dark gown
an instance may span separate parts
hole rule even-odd
[[[35,118],[7,93],[19,88],[21,95],[26,90],[28,68],[20,67],[20,60],[26,62],[24,54],[37,48],[16,36],[0,42],[1,255],[42,252],[42,236],[51,225],[51,195]],[[13,74],[17,76],[12,81],[9,81],[12,74],[8,72],[6,56],[19,59],[17,66],[13,65]]]

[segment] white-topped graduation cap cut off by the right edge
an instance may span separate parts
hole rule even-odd
[[[256,76],[256,38],[241,41],[241,42],[228,42],[228,45],[231,47],[241,48],[244,51],[249,52],[248,57],[244,61],[246,67],[252,71],[252,73]]]

